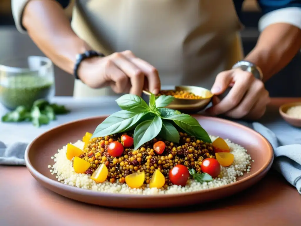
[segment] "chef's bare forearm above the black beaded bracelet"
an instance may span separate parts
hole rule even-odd
[[[22,25],[39,49],[70,74],[73,74],[76,54],[90,49],[73,32],[63,8],[54,0],[29,1]]]

